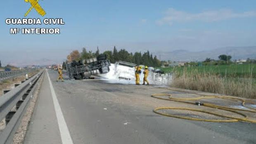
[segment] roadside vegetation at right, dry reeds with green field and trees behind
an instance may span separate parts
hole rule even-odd
[[[254,60],[247,60],[244,64],[215,62],[217,64],[204,61],[201,66],[174,66],[161,70],[173,73],[172,87],[256,99]]]

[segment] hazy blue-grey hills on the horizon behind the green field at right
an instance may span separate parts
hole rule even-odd
[[[161,60],[171,61],[204,61],[206,57],[218,59],[220,54],[228,54],[232,59],[256,59],[256,46],[250,47],[225,47],[214,50],[193,52],[189,50],[174,50],[171,52],[159,52]],[[159,55],[158,54],[158,55]]]

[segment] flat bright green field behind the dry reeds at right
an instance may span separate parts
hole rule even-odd
[[[256,64],[230,64],[230,65],[214,65],[214,66],[182,66],[160,68],[165,73],[170,72],[194,72],[217,74],[228,77],[252,77],[256,78]]]

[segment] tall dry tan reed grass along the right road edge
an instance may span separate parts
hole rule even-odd
[[[239,77],[223,76],[209,70],[204,73],[198,69],[187,71],[187,68],[183,71],[173,68],[172,73],[172,87],[256,99],[256,79],[252,71]]]

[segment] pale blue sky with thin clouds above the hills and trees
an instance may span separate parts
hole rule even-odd
[[[24,0],[0,5],[0,60],[3,64],[60,62],[72,50],[153,54],[256,45],[256,0],[39,0],[26,18],[62,18],[65,25],[7,25],[24,18]],[[59,35],[10,35],[9,28],[60,28]]]

